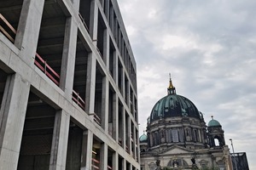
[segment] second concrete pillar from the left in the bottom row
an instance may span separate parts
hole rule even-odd
[[[69,120],[70,116],[66,111],[56,112],[49,170],[61,170],[66,168]]]

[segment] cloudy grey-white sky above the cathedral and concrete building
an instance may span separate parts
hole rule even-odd
[[[118,0],[137,60],[140,134],[169,72],[256,169],[256,1]],[[231,149],[231,146],[230,146]]]

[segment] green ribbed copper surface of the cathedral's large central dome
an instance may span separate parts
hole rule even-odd
[[[173,93],[160,99],[154,105],[150,115],[150,122],[160,118],[174,116],[189,116],[198,119],[201,118],[199,111],[189,99]]]

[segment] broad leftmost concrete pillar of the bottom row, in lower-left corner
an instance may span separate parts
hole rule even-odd
[[[18,74],[7,78],[0,111],[0,169],[17,168],[29,89]]]

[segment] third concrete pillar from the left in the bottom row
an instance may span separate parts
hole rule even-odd
[[[90,130],[84,131],[83,144],[82,144],[82,156],[81,156],[81,170],[91,169],[92,144],[93,144],[93,133],[90,132]]]

